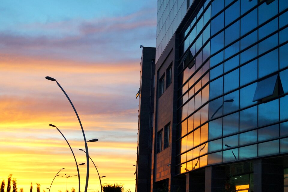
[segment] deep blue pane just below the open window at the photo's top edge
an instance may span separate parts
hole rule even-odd
[[[273,1],[269,5],[262,3],[258,8],[259,25],[275,16],[278,13],[278,1]]]

